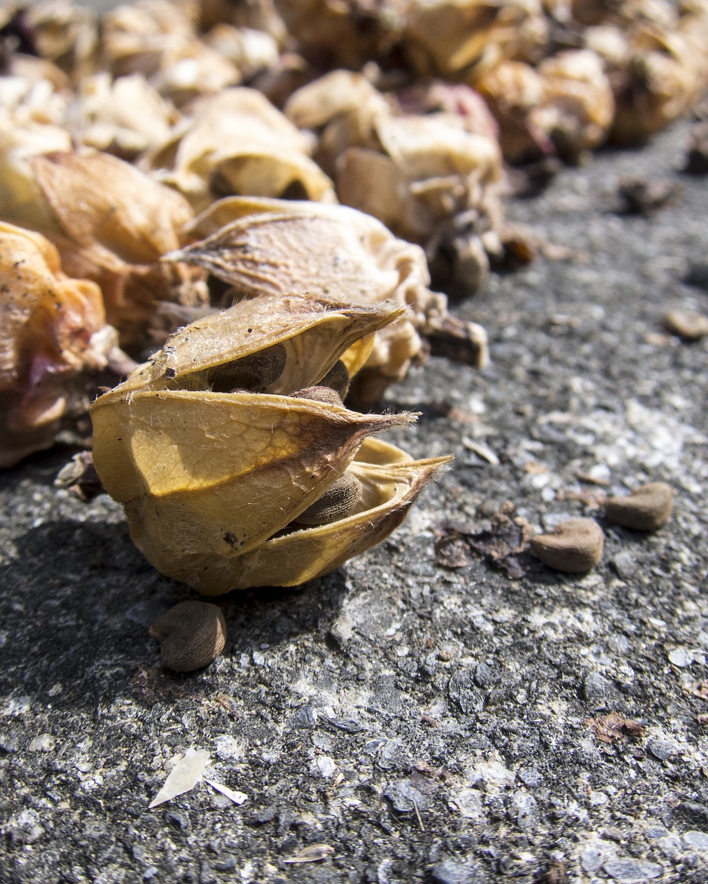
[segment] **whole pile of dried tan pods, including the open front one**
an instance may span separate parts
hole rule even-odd
[[[707,32],[708,0],[4,4],[0,467],[88,438],[134,369],[95,464],[157,568],[336,568],[441,462],[342,400],[483,364],[430,271],[465,295],[504,259],[505,162],[657,132],[708,86]]]

